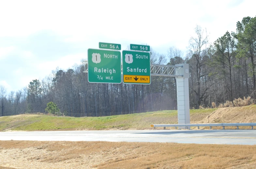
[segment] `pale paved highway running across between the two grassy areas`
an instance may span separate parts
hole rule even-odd
[[[101,130],[0,132],[0,140],[256,144],[256,130]]]

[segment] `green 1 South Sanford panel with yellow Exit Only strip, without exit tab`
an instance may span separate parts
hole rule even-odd
[[[150,54],[123,51],[123,83],[150,84]]]

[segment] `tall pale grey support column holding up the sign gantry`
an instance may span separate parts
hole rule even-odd
[[[175,66],[183,66],[177,68],[176,71],[183,77],[176,77],[177,85],[177,107],[178,107],[178,124],[190,124],[189,113],[189,91],[188,91],[188,78],[189,68],[188,64],[177,64]],[[179,127],[179,129],[190,129],[190,127]]]

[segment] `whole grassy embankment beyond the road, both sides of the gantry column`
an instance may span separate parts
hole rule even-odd
[[[190,110],[191,123],[256,122],[256,105]],[[150,124],[177,124],[177,110],[106,117],[14,115],[0,117],[0,131],[152,129]],[[162,129],[162,128],[159,128]]]

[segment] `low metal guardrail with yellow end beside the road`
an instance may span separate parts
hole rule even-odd
[[[177,127],[186,127],[188,129],[188,127],[197,127],[197,129],[199,129],[199,127],[210,127],[210,129],[212,129],[213,126],[222,126],[223,129],[225,129],[225,126],[236,126],[236,129],[239,129],[239,126],[250,126],[251,129],[253,130],[253,126],[256,126],[256,123],[211,123],[211,124],[170,124],[170,125],[150,125],[150,127],[154,127],[154,129],[156,129],[156,127],[175,127],[175,129],[177,129]]]

